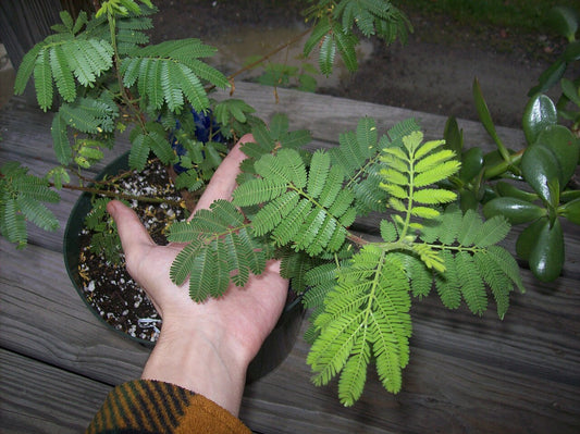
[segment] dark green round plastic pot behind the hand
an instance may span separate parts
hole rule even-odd
[[[128,168],[128,152],[119,157],[112,163],[110,163],[104,170],[97,176],[97,179],[101,179],[104,176],[116,175],[120,171],[127,170]],[[153,347],[155,343],[139,337],[131,336],[129,334],[116,330],[109,324],[90,305],[85,297],[83,290],[84,284],[81,275],[78,274],[81,246],[79,234],[84,227],[85,216],[91,209],[91,194],[84,193],[71,211],[69,221],[64,231],[63,255],[66,272],[71,277],[71,281],[89,310],[102,322],[109,330],[114,333],[136,342],[146,347]],[[288,293],[288,300],[282,312],[282,315],[275,325],[272,333],[266,338],[260,351],[248,367],[247,383],[251,383],[275,369],[286,356],[292,351],[296,337],[300,330],[300,325],[304,319],[304,308],[300,299],[297,298],[292,290]]]

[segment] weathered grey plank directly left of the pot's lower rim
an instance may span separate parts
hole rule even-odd
[[[118,384],[140,374],[149,350],[108,330],[73,288],[62,253],[0,239],[0,346]]]

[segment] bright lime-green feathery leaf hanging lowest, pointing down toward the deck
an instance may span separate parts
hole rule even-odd
[[[385,388],[398,392],[411,334],[404,271],[386,261],[380,249],[366,247],[338,271],[338,285],[324,303],[314,323],[320,335],[307,359],[314,383],[326,384],[340,373],[338,396],[350,406],[362,393],[372,355]]]

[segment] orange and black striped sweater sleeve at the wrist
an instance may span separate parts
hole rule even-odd
[[[116,386],[86,434],[251,433],[227,410],[173,384],[135,380]]]

